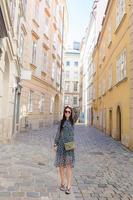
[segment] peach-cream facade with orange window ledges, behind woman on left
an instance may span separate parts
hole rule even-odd
[[[31,71],[31,80],[21,82],[20,130],[40,130],[57,122],[62,114],[67,6],[65,0],[33,0],[32,4],[27,1],[24,12],[21,62],[26,76]]]

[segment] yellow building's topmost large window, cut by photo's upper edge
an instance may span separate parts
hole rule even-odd
[[[125,0],[117,0],[116,27],[119,26],[125,14]]]

